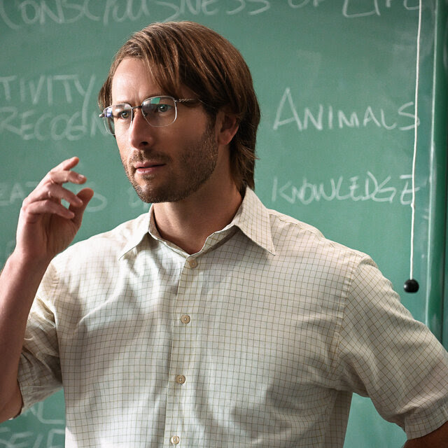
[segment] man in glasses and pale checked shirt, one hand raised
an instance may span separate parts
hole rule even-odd
[[[57,255],[93,195],[63,187],[85,182],[78,159],[24,201],[0,283],[2,419],[64,386],[66,447],[334,448],[354,391],[406,447],[448,447],[442,346],[370,258],[253,193],[258,103],[228,41],[150,25],[99,102],[153,205]]]

